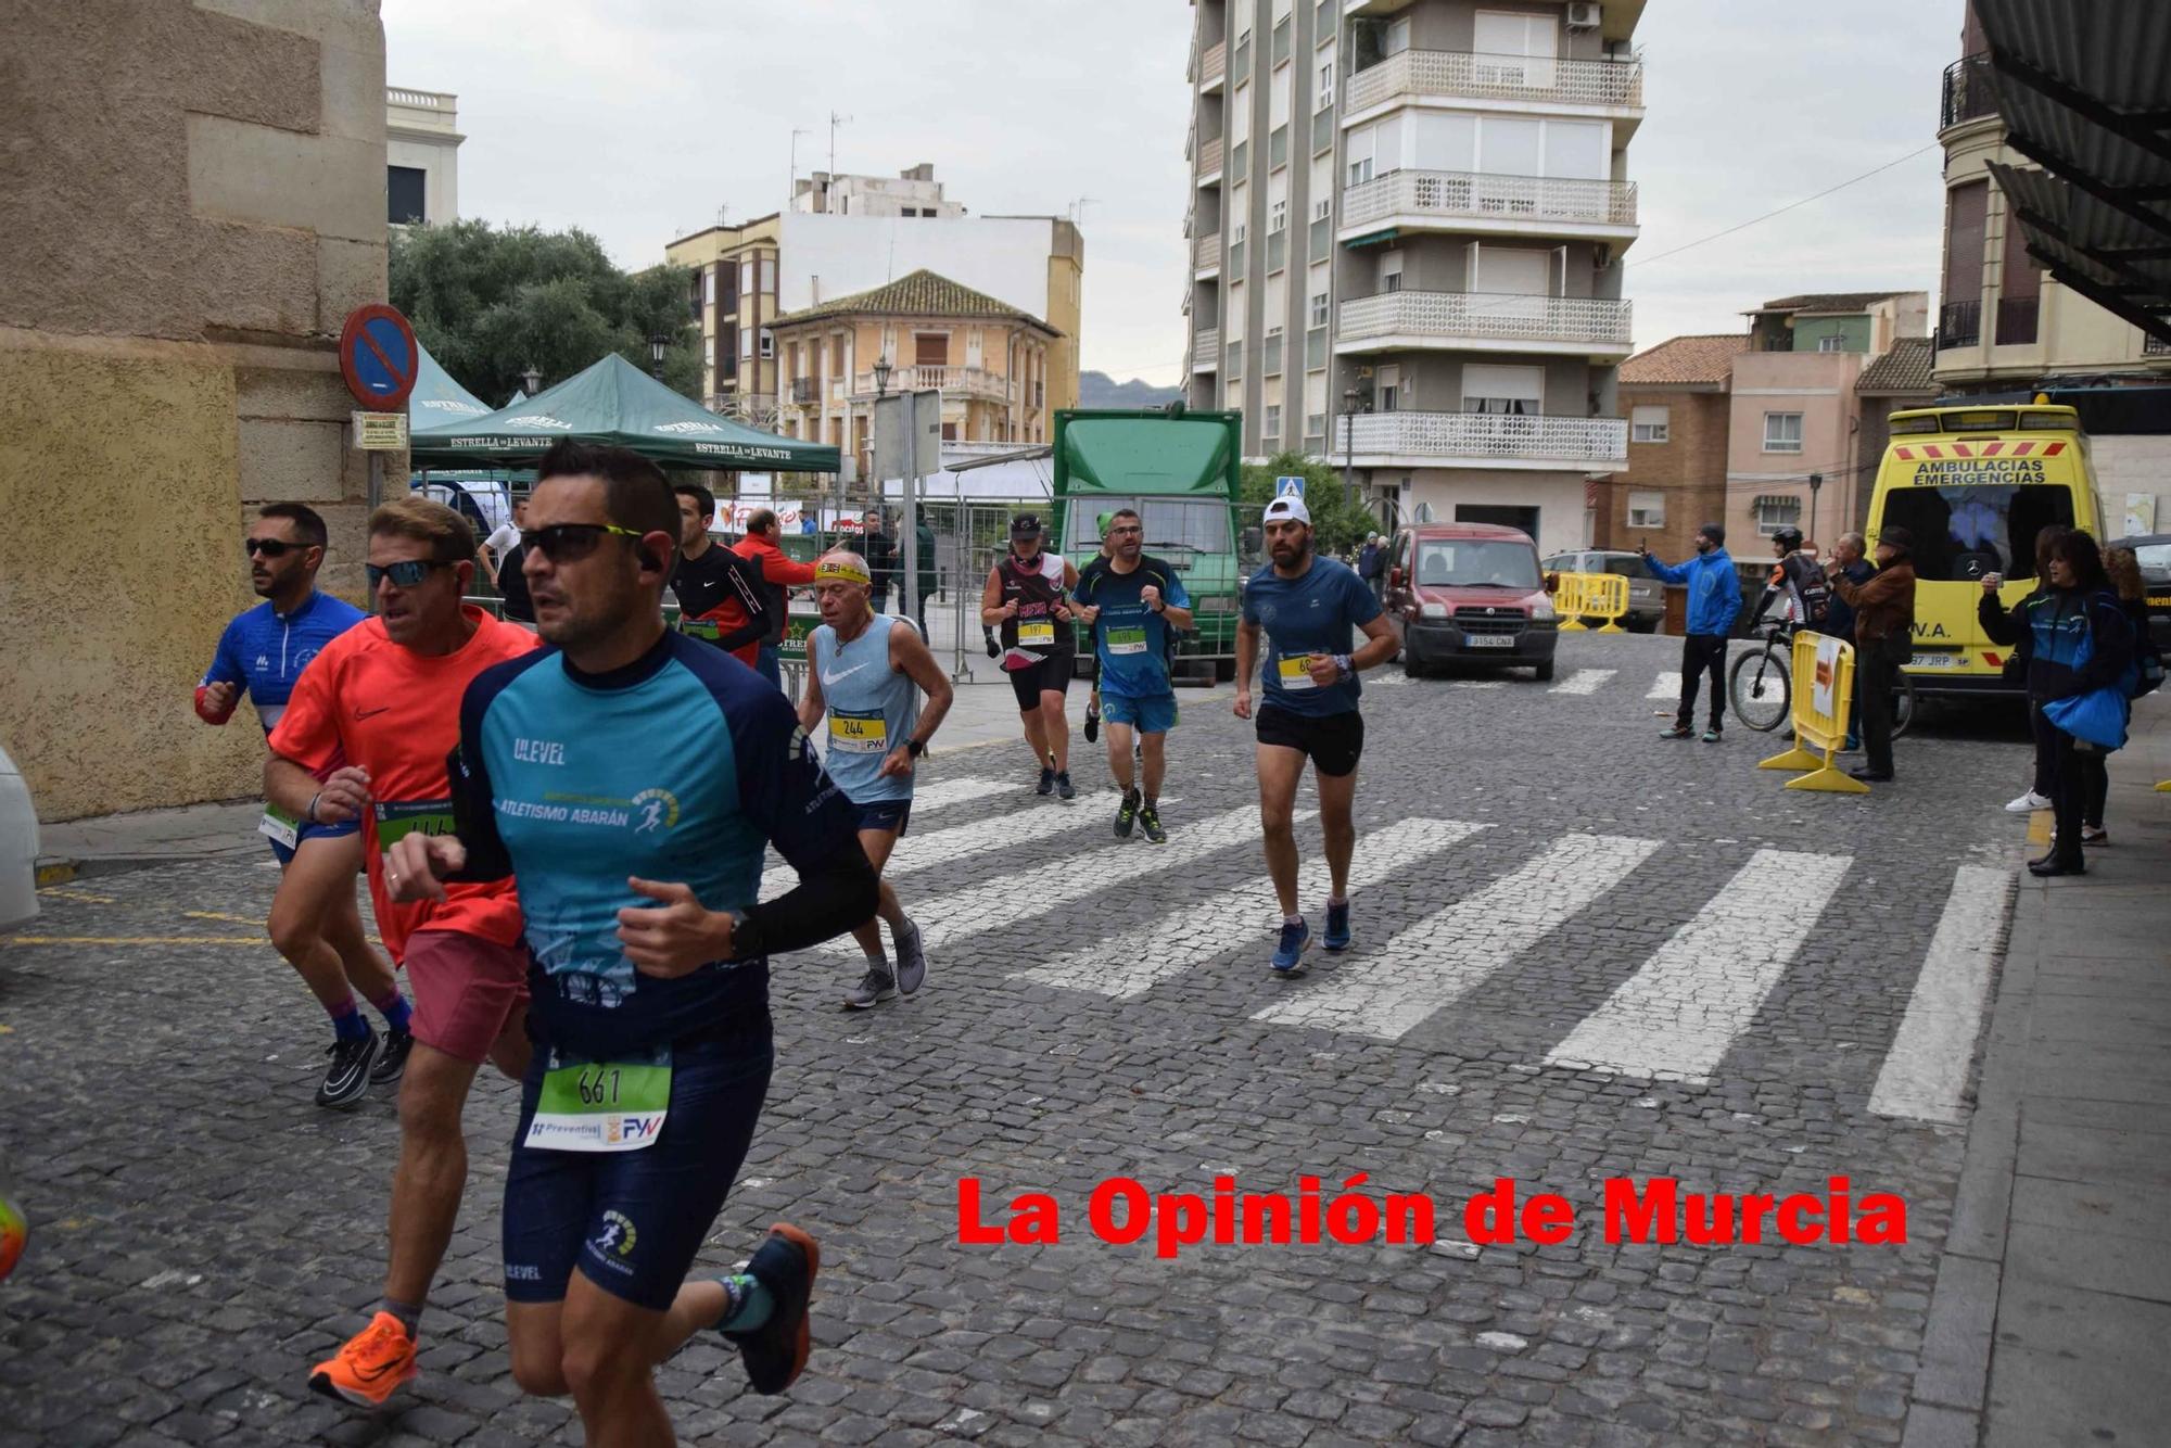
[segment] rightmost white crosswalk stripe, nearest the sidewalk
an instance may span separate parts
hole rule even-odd
[[[1900,1033],[1869,1092],[1869,1109],[1878,1116],[1965,1120],[1967,1064],[1976,1055],[1982,999],[2010,907],[2010,871],[1965,864],[1954,875]]]

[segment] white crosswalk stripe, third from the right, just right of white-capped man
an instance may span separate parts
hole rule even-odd
[[[1253,1020],[1398,1040],[1589,907],[1656,849],[1656,840],[1572,834]]]

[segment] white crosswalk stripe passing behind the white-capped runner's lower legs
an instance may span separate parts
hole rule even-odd
[[[1431,858],[1478,829],[1489,829],[1489,825],[1409,818],[1374,834],[1363,834],[1357,838],[1357,853],[1350,860],[1350,890],[1366,890],[1383,879],[1394,879],[1418,860]],[[1300,903],[1322,901],[1326,899],[1326,862],[1313,855],[1298,871],[1296,899]],[[1266,875],[1259,875],[1227,894],[1170,910],[1146,925],[1096,940],[1088,949],[1072,951],[1031,970],[1018,970],[1010,979],[1090,990],[1116,996],[1118,1001],[1142,996],[1161,981],[1183,975],[1201,960],[1211,957],[1227,942],[1257,938],[1259,953],[1264,955],[1279,916],[1281,905],[1274,901],[1274,884]],[[1198,938],[1218,944],[1194,944]]]

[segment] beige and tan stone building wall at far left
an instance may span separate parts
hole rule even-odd
[[[376,0],[0,0],[0,740],[41,818],[256,792],[191,710],[256,504],[360,597],[345,315],[384,300]],[[406,458],[386,456],[402,478]]]

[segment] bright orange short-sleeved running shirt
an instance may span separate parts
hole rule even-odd
[[[363,823],[369,899],[393,960],[406,960],[417,929],[454,929],[495,944],[521,938],[517,881],[445,886],[445,903],[393,905],[384,894],[384,849],[408,829],[452,829],[445,755],[460,742],[467,682],[541,640],[465,604],[475,634],[456,651],[430,658],[395,645],[382,619],[356,623],[328,643],[293,684],[271,751],[319,779],[354,764],[369,771],[373,801]]]

